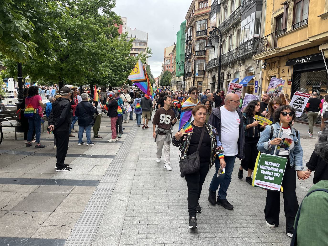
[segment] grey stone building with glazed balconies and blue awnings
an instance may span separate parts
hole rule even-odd
[[[222,50],[218,79],[219,49],[216,47],[219,43],[213,43],[215,48],[210,52],[207,65],[209,88],[227,92],[229,83],[235,82],[244,84],[242,96],[245,93],[259,94],[261,63],[254,61],[252,56],[254,42],[260,37],[262,0],[221,0],[212,5],[211,23],[216,24],[222,33]]]

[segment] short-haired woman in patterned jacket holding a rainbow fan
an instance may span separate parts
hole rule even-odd
[[[194,116],[194,121],[192,122],[193,133],[183,135],[181,132],[177,132],[172,138],[172,144],[180,147],[180,160],[184,160],[188,155],[194,154],[197,150],[199,152],[200,170],[192,174],[185,174],[188,186],[189,228],[192,229],[197,228],[196,213],[201,213],[202,211],[198,200],[206,175],[216,158],[215,135],[217,133],[213,126],[205,123],[206,113],[205,105],[196,105],[192,111]],[[219,158],[221,167],[225,167],[223,154]]]

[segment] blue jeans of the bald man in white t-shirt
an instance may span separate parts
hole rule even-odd
[[[216,191],[220,185],[220,189],[217,193],[217,195],[219,196],[219,199],[226,199],[227,190],[228,190],[230,182],[231,182],[231,174],[232,174],[232,171],[234,170],[234,166],[235,166],[236,155],[233,155],[233,156],[225,155],[224,160],[226,162],[225,173],[221,174],[217,178],[217,171],[219,170],[219,167],[220,167],[220,161],[218,158],[216,158],[215,174],[214,174],[211,184],[210,184],[211,191]]]

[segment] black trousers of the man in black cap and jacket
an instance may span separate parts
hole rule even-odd
[[[56,139],[56,146],[57,146],[57,152],[56,152],[56,166],[57,168],[65,168],[65,158],[68,150],[68,139],[69,139],[69,132],[58,132],[53,131],[53,135]]]

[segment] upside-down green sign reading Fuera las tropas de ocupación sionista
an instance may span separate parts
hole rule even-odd
[[[261,154],[255,166],[254,186],[280,191],[286,164],[286,157]]]

